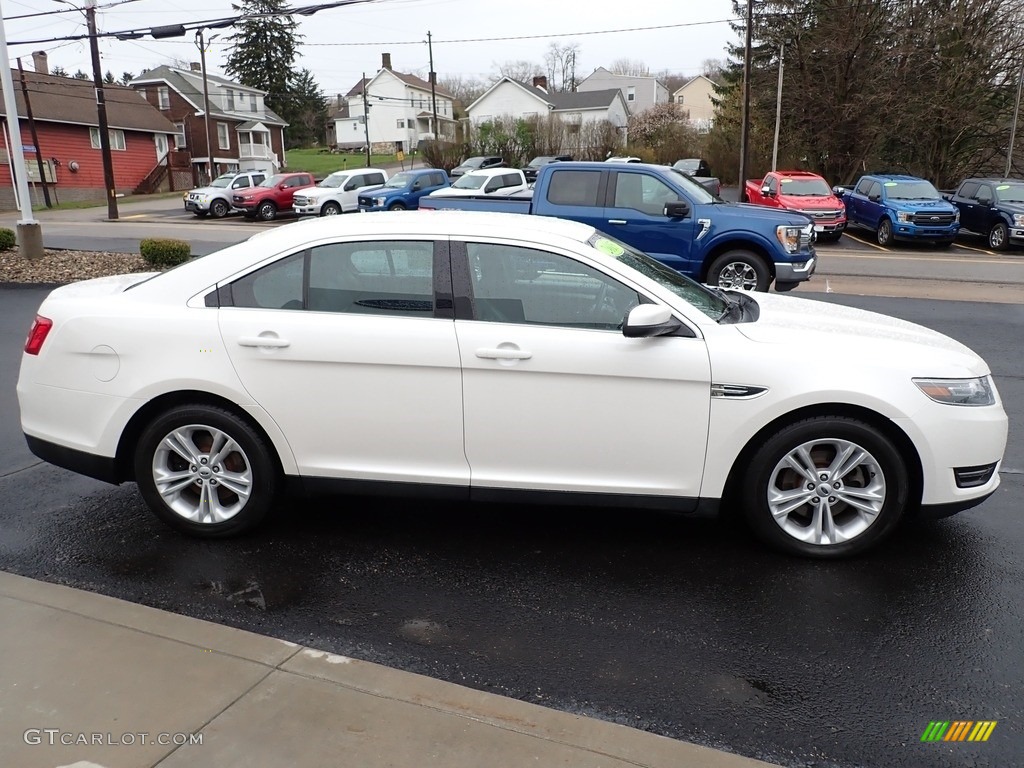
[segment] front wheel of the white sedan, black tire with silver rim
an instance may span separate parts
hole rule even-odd
[[[865,452],[866,458],[843,475],[828,476],[827,468],[839,446],[847,444]],[[808,449],[814,463],[813,481],[783,462],[801,446]],[[868,424],[843,416],[804,419],[769,435],[736,483],[735,498],[759,539],[783,552],[816,558],[847,557],[878,544],[899,522],[910,493],[906,463],[893,443]],[[869,487],[880,493],[881,503],[873,516],[858,514],[847,503],[847,498],[857,498],[844,496],[848,487],[858,488],[860,498],[866,498]],[[769,503],[771,489],[788,494],[805,490],[808,501],[776,518]],[[785,502],[779,500],[779,504],[784,506]],[[820,536],[815,527],[818,517],[833,520],[835,542],[802,540]],[[823,522],[820,525],[826,530]]]

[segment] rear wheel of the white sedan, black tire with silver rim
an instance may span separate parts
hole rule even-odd
[[[179,444],[196,459],[194,464],[169,449],[166,438],[172,433],[180,436]],[[229,437],[239,450],[216,454],[217,433]],[[182,534],[208,539],[237,536],[256,526],[270,510],[280,484],[271,449],[259,432],[225,409],[203,404],[178,406],[154,419],[139,437],[134,469],[142,499],[157,517]],[[184,484],[165,488],[165,497],[157,487],[158,472],[187,477],[182,478]],[[243,499],[232,487],[245,473],[249,493]],[[202,510],[210,508],[203,502],[204,493],[216,495],[224,519],[202,520]],[[196,519],[189,519],[189,513]]]

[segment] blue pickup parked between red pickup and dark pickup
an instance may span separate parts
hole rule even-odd
[[[897,240],[949,246],[959,231],[956,207],[916,176],[861,176],[852,189],[836,187],[836,193],[846,206],[847,228],[870,229],[880,246]]]

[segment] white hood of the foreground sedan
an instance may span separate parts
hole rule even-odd
[[[784,354],[823,352],[822,365],[846,366],[850,358],[842,360],[843,350],[859,349],[872,362],[884,361],[914,376],[974,377],[989,373],[988,366],[972,349],[924,326],[795,296],[759,293],[754,298],[760,316],[735,328],[751,341],[784,345]]]

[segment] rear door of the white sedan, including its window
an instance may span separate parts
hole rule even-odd
[[[219,310],[243,385],[302,475],[466,485],[447,244],[316,245],[234,281]]]

